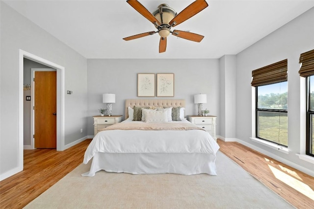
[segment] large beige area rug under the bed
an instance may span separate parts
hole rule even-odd
[[[288,202],[224,154],[217,176],[109,173],[82,177],[81,164],[26,209],[290,209]]]

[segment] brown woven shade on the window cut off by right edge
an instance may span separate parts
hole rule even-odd
[[[300,54],[302,66],[299,70],[300,76],[307,77],[314,75],[314,49]]]

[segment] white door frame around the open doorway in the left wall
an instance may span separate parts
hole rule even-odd
[[[57,71],[57,151],[63,151],[65,147],[64,141],[64,109],[65,109],[65,68],[58,64],[52,63],[49,60],[38,57],[27,51],[19,49],[19,167],[23,170],[24,156],[23,156],[23,78],[24,78],[24,58],[32,60],[34,62],[46,65]]]

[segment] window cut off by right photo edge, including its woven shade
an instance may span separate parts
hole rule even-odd
[[[300,54],[300,76],[307,83],[306,154],[314,157],[314,50]]]

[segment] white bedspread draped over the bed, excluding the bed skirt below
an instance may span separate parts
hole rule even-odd
[[[174,122],[189,123],[187,120]],[[98,153],[196,153],[210,155],[210,162],[214,165],[218,149],[216,141],[203,130],[106,130],[99,132],[91,141],[83,163],[88,163]]]

